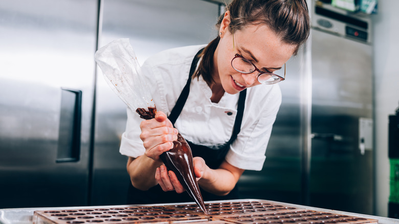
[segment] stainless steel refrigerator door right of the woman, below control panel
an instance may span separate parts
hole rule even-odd
[[[372,214],[371,46],[312,32],[310,205]]]

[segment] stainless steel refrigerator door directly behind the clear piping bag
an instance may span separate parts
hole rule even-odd
[[[212,29],[218,4],[198,0],[104,0],[102,47],[119,38],[129,38],[140,63],[162,50],[205,44],[216,37]],[[125,204],[130,184],[127,156],[119,153],[126,126],[126,105],[97,70],[96,130],[92,205]]]

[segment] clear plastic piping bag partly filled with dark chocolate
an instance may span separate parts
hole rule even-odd
[[[115,94],[136,111],[142,119],[152,119],[157,107],[152,100],[149,86],[141,75],[140,64],[129,39],[114,40],[100,48],[95,55],[105,81]],[[195,180],[193,159],[190,146],[178,133],[178,140],[173,141],[173,148],[160,155],[168,170],[172,170],[195,203],[208,214],[200,188]]]

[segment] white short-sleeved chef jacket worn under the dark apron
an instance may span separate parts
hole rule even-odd
[[[170,115],[185,86],[192,59],[205,46],[188,46],[160,52],[148,58],[142,75],[150,86],[157,110]],[[212,91],[202,76],[191,80],[190,94],[174,126],[188,141],[217,147],[229,141],[237,114],[239,94],[225,93],[218,103],[211,102]],[[241,130],[230,145],[226,161],[240,169],[261,170],[273,123],[281,104],[278,84],[247,89]],[[120,153],[137,158],[145,148],[140,139],[143,119],[127,108],[126,130]]]

